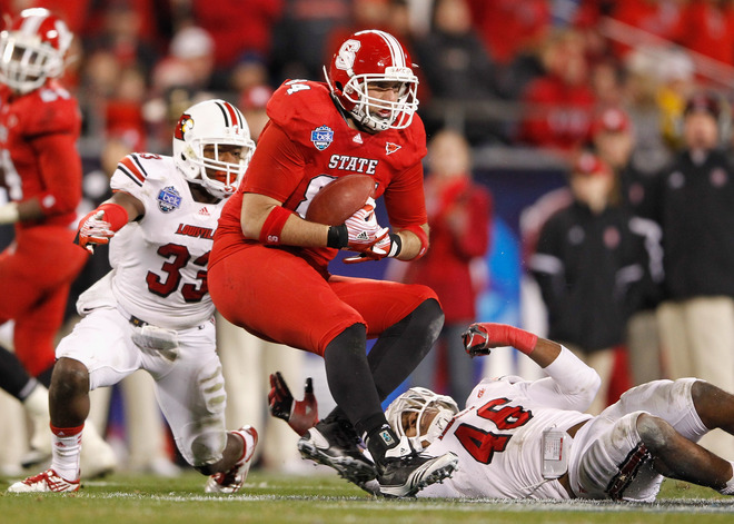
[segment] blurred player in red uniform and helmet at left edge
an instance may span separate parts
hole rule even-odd
[[[0,33],[0,166],[11,199],[0,224],[16,228],[0,254],[0,324],[16,322],[16,354],[47,386],[69,288],[87,260],[71,228],[81,200],[81,113],[54,80],[72,38],[40,8]]]

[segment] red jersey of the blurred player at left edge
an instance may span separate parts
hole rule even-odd
[[[13,201],[38,198],[44,217],[16,225],[21,233],[40,224],[68,226],[81,200],[81,131],[77,101],[49,81],[27,95],[0,86],[0,166]]]

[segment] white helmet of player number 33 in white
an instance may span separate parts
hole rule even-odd
[[[214,158],[204,155],[214,146]],[[242,148],[238,161],[220,160],[220,146]],[[173,161],[184,176],[218,198],[235,192],[245,175],[255,142],[245,117],[225,100],[205,100],[188,108],[173,132]]]

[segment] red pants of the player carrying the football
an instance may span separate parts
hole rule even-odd
[[[260,338],[324,355],[354,324],[375,338],[436,294],[421,285],[331,276],[302,258],[249,246],[209,268],[209,293],[232,324]]]

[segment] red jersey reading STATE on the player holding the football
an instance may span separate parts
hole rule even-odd
[[[393,227],[426,224],[421,158],[427,151],[418,116],[406,129],[375,135],[356,130],[337,110],[327,85],[306,80],[280,86],[267,111],[270,121],[247,174],[237,194],[225,205],[210,265],[232,250],[259,244],[242,236],[244,192],[275,198],[305,217],[309,202],[326,184],[346,175],[364,174],[374,177],[375,198],[384,197]],[[329,248],[295,249],[321,267],[336,255],[336,249]]]

